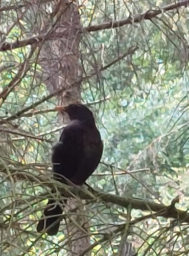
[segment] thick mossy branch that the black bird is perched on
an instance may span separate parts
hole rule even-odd
[[[2,171],[7,173],[7,168]],[[102,200],[103,202],[116,204],[122,207],[131,206],[133,209],[150,211],[152,215],[154,212],[155,216],[179,219],[181,222],[189,223],[189,214],[186,211],[176,209],[172,204],[170,206],[166,206],[144,199],[127,198],[111,194],[99,193],[93,189],[91,193],[89,190],[83,188],[70,188],[69,186],[60,182],[52,182],[52,179],[44,175],[29,173],[24,170],[19,170],[19,172],[17,170],[10,170],[9,175],[10,174],[16,180],[22,179],[31,182],[37,182],[39,185],[42,184],[42,186],[46,185],[52,188],[52,185],[54,184],[65,197],[73,197],[75,195],[79,196],[81,199],[92,200],[93,202]]]

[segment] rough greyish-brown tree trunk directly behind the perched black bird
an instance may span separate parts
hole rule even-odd
[[[82,27],[80,25],[80,16],[76,3],[66,1],[55,1],[56,6],[51,14],[51,25],[45,25],[43,30],[62,33],[60,39],[45,40],[40,46],[38,63],[42,67],[40,77],[45,81],[46,87],[52,93],[58,89],[64,88],[63,93],[57,95],[57,103],[67,105],[73,102],[79,102],[80,84],[72,85],[79,75],[79,42],[81,39]],[[47,21],[47,19],[46,19]],[[46,23],[47,24],[47,23]],[[66,123],[66,116],[59,115],[59,123]],[[73,202],[74,200],[72,200]],[[81,203],[74,202],[74,207]],[[70,206],[71,207],[71,206]],[[69,245],[68,255],[78,255],[90,244],[88,231],[85,229],[87,219],[81,212],[76,214],[74,224],[67,224],[67,239]],[[81,228],[80,228],[81,227]],[[87,254],[85,254],[87,255]]]

